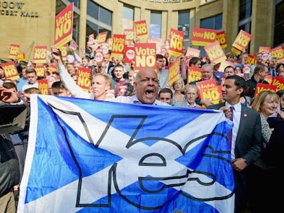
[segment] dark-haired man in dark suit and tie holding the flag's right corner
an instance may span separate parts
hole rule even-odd
[[[244,95],[246,82],[238,75],[226,77],[222,87],[225,102],[210,105],[209,109],[223,110],[225,114],[233,106],[233,132],[231,157],[235,179],[235,212],[246,210],[248,203],[248,174],[250,165],[261,153],[261,120],[259,113],[245,105],[240,98]]]

